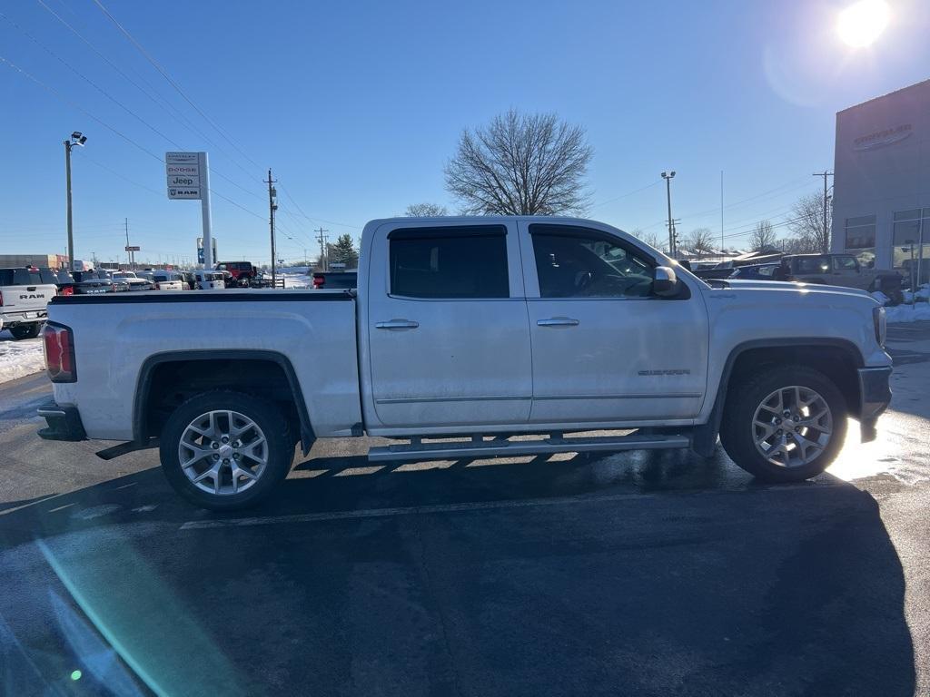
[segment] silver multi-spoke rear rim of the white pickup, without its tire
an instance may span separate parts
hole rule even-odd
[[[200,414],[184,429],[178,444],[181,471],[206,493],[242,493],[268,466],[268,441],[245,414]]]

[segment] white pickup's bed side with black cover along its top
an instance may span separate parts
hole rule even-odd
[[[362,420],[355,302],[345,291],[59,296],[48,319],[73,330],[77,381],[56,384],[55,400],[80,405],[89,438],[132,440],[140,383],[153,362],[176,353],[204,361],[224,351],[274,354],[292,367],[318,436],[350,435]]]

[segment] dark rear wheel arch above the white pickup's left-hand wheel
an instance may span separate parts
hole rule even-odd
[[[297,378],[297,373],[290,360],[282,353],[277,351],[259,350],[259,349],[230,349],[230,350],[180,350],[166,351],[149,356],[140,367],[139,378],[136,386],[135,396],[133,398],[132,410],[132,434],[133,441],[137,443],[147,442],[153,435],[152,417],[153,403],[153,384],[155,378],[159,376],[160,371],[165,370],[167,366],[174,369],[182,370],[195,364],[197,368],[203,363],[213,362],[215,366],[228,366],[233,363],[255,363],[264,366],[274,366],[280,370],[284,376],[286,389],[289,390],[288,404],[293,405],[294,414],[299,425],[299,436],[302,444],[303,454],[310,451],[310,446],[315,440],[315,434],[310,420],[310,413],[307,409],[307,401],[303,398],[303,390]],[[209,371],[204,372],[200,377],[208,380],[210,375],[215,375],[216,368],[211,374]],[[256,374],[260,376],[260,373]],[[206,382],[205,382],[206,385]],[[254,386],[254,383],[253,383]],[[225,386],[230,388],[242,388],[242,386]],[[246,390],[248,386],[246,385]],[[277,401],[282,401],[278,399]]]

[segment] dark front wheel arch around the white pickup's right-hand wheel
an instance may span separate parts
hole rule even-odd
[[[857,415],[860,396],[857,369],[865,363],[852,341],[811,337],[752,339],[737,344],[726,357],[711,414],[706,423],[694,429],[692,447],[697,454],[710,456],[713,453],[724,417],[727,393],[734,378],[738,379],[752,365],[766,363],[802,363],[820,370],[843,394],[849,413]]]

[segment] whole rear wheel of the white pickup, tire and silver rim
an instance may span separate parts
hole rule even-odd
[[[194,506],[254,506],[285,480],[294,458],[287,420],[272,402],[206,392],[168,418],[160,443],[168,483]]]

